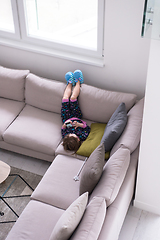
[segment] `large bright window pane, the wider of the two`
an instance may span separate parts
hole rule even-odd
[[[97,50],[98,0],[25,0],[25,12],[29,37]]]

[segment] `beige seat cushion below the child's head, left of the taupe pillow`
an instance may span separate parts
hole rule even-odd
[[[79,159],[58,155],[31,198],[67,209],[79,196],[79,181],[75,181],[73,178],[77,175],[82,164],[83,161]]]

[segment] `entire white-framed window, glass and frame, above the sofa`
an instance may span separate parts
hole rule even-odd
[[[0,35],[102,56],[104,0],[0,0]]]

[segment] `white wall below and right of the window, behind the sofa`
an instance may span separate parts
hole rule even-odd
[[[104,55],[105,66],[63,60],[0,45],[0,64],[30,69],[32,73],[65,81],[67,71],[81,69],[85,83],[109,90],[144,96],[149,40],[142,39],[144,0],[106,0]]]

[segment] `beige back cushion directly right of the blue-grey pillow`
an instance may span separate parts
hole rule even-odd
[[[142,119],[143,119],[144,98],[138,101],[128,112],[127,125],[113,146],[111,155],[115,153],[120,146],[130,149],[132,153],[138,146],[141,136]]]

